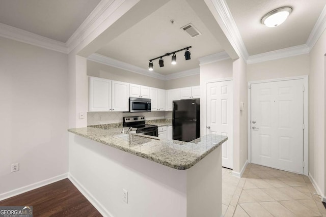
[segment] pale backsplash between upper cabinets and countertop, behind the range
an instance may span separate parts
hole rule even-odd
[[[166,118],[165,111],[152,111],[152,112],[137,112],[137,113],[127,113],[127,112],[87,112],[87,125],[104,125],[105,123],[119,123],[122,122],[123,117],[129,116],[140,116],[144,115],[146,120],[154,119],[164,119]],[[167,117],[169,118],[169,117]]]

